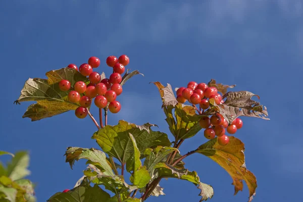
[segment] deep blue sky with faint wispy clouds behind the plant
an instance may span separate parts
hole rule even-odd
[[[243,118],[244,126],[236,133],[245,143],[246,166],[257,176],[254,201],[302,201],[303,1],[123,2],[2,2],[0,149],[30,151],[29,178],[37,184],[38,201],[72,188],[82,176],[85,161],[71,170],[63,154],[68,146],[97,147],[90,139],[96,128],[89,118],[79,120],[73,112],[36,122],[22,119],[29,103],[13,102],[25,80],[45,78],[46,71],[80,65],[90,56],[102,60],[99,72],[110,74],[106,58],[122,54],[130,58],[128,67],[145,77],[127,82],[119,97],[121,112],[109,116],[111,125],[120,119],[150,122],[169,133],[159,92],[150,81],[173,87],[211,78],[237,84],[234,90],[259,94],[271,118]],[[197,134],[184,142],[181,152],[205,141]],[[247,200],[247,188],[233,196],[230,176],[212,160],[193,155],[185,162],[214,187],[211,201]],[[191,183],[173,179],[161,185],[166,196],[148,201],[199,200],[199,190]]]

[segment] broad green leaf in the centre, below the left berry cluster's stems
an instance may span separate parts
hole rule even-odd
[[[92,136],[99,146],[109,155],[117,158],[122,164],[125,164],[133,157],[134,148],[129,137],[131,133],[137,147],[142,154],[146,148],[155,148],[159,145],[170,146],[167,134],[153,131],[150,129],[153,124],[146,123],[138,126],[126,121],[120,120],[116,126],[107,125],[95,132]]]

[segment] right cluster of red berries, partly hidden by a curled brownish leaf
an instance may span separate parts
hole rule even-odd
[[[204,111],[211,107],[210,99],[214,99],[217,105],[223,104],[224,100],[222,95],[218,92],[218,89],[214,86],[208,86],[206,83],[196,83],[190,81],[187,87],[180,87],[177,89],[177,101],[179,103],[185,103],[188,101],[191,103],[199,114],[203,115]],[[196,105],[199,105],[199,110]],[[228,144],[229,137],[225,134],[226,131],[229,134],[236,133],[237,129],[240,129],[243,125],[241,119],[236,118],[230,125],[224,117],[216,113],[211,117],[204,116],[200,119],[199,124],[201,128],[205,128],[204,136],[207,139],[213,139],[218,137],[218,143],[222,146]]]

